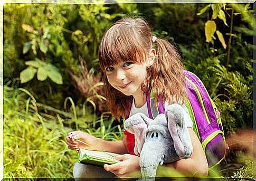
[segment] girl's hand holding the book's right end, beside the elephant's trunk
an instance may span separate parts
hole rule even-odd
[[[120,160],[117,164],[104,165],[104,169],[115,174],[118,177],[141,177],[139,157],[135,155],[125,154],[118,155],[115,159]]]

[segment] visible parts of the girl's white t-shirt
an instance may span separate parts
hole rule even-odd
[[[166,107],[168,106],[168,102],[165,102],[165,109]],[[185,106],[185,104],[182,105],[183,109],[185,110],[186,114],[184,115],[184,118],[185,118],[185,124],[187,127],[191,127],[193,128],[193,122],[189,116],[189,112],[187,110],[187,107]],[[135,107],[135,102],[134,102],[134,99],[132,100],[132,105],[131,105],[131,110],[130,110],[130,116],[131,117],[132,115],[135,115],[136,113],[144,113],[144,115],[146,115],[148,118],[148,108],[147,108],[147,102],[140,108],[136,108]]]

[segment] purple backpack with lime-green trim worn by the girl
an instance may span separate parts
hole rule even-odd
[[[188,99],[185,104],[193,121],[193,130],[200,139],[205,151],[209,167],[213,167],[224,159],[226,142],[220,117],[214,102],[210,98],[201,80],[192,72],[184,70]],[[159,107],[154,106],[154,92],[147,95],[149,118],[164,113],[164,101]]]

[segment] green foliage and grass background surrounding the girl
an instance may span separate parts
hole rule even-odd
[[[106,28],[124,16],[144,17],[154,35],[176,45],[185,68],[204,82],[221,112],[225,134],[252,129],[251,8],[4,4],[4,177],[72,177],[76,155],[64,142],[71,130],[122,139],[121,120],[113,119],[105,106],[97,51]],[[213,18],[220,9],[225,21]],[[216,33],[206,42],[207,21],[215,22],[226,48]],[[245,161],[244,153],[243,148],[231,151],[219,176],[248,172],[246,177],[252,177],[253,162]]]

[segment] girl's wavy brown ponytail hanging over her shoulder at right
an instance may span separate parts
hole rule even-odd
[[[169,104],[185,102],[187,94],[181,56],[166,40],[156,39],[153,44],[157,53],[147,81],[154,90],[156,106],[162,97]]]

